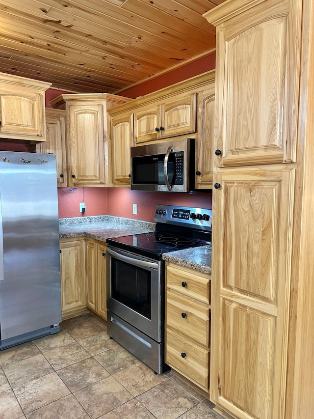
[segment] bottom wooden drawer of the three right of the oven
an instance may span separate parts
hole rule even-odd
[[[190,381],[208,390],[209,351],[168,329],[166,330],[166,363]]]

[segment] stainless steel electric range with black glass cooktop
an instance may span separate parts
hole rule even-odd
[[[107,239],[108,334],[157,373],[164,363],[162,254],[211,242],[211,210],[157,205],[156,230]]]

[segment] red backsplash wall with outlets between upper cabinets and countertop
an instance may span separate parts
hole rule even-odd
[[[156,204],[196,206],[211,209],[211,193],[181,194],[131,191],[129,188],[58,188],[59,218],[115,215],[154,222]],[[79,202],[86,212],[79,212]],[[137,204],[137,215],[133,215]]]

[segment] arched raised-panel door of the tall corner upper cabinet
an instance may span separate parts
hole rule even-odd
[[[69,105],[68,153],[73,185],[105,184],[103,105]]]

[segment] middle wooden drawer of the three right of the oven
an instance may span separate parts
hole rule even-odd
[[[167,292],[166,325],[178,333],[209,346],[209,308]]]

